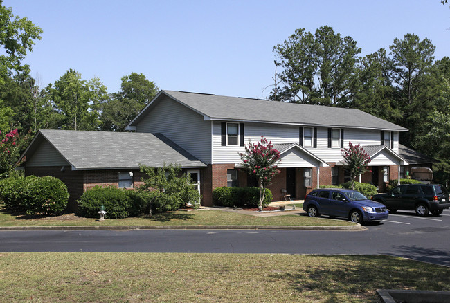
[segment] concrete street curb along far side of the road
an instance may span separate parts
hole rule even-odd
[[[0,226],[0,231],[31,230],[340,230],[361,231],[355,226]]]

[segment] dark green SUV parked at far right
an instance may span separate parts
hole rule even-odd
[[[375,194],[372,200],[383,203],[390,212],[415,210],[419,216],[429,212],[439,216],[442,210],[450,208],[449,192],[440,184],[398,185],[386,194]]]

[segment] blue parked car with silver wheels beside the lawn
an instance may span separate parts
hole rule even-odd
[[[321,188],[313,190],[305,196],[303,210],[309,217],[345,217],[355,223],[381,221],[388,219],[386,206],[370,201],[356,190],[340,188]]]

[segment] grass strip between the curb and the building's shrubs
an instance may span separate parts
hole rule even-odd
[[[345,220],[310,218],[287,214],[276,217],[255,217],[221,210],[176,211],[154,214],[151,219],[134,217],[126,219],[87,219],[73,215],[32,218],[13,216],[0,211],[0,226],[213,226],[213,225],[261,225],[261,226],[352,226]]]

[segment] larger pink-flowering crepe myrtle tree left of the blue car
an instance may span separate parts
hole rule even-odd
[[[260,187],[260,210],[262,210],[262,201],[266,194],[266,187],[270,183],[273,176],[279,174],[277,169],[280,163],[280,152],[273,147],[272,142],[261,136],[258,143],[245,145],[245,153],[239,154],[242,160],[242,167],[248,174],[254,176],[258,180]]]

